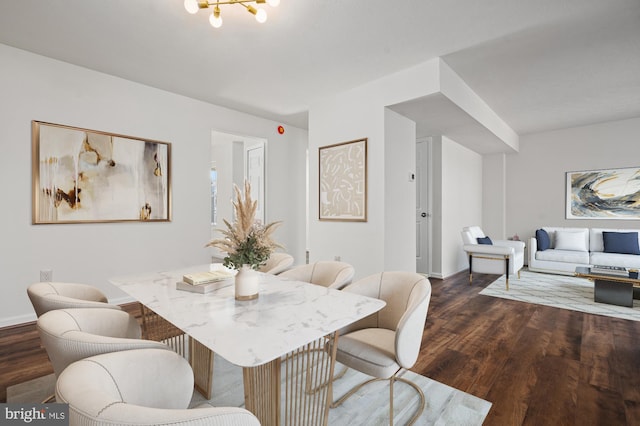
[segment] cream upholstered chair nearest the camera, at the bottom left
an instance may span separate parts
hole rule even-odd
[[[204,404],[188,408],[189,363],[171,351],[135,349],[74,362],[56,382],[56,400],[69,404],[72,425],[259,426],[249,411]]]

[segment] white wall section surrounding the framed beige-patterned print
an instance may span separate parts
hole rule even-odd
[[[367,138],[367,222],[318,219],[318,148]],[[398,206],[398,208],[403,208]],[[362,94],[327,99],[309,113],[309,260],[340,256],[356,279],[384,265],[384,108]]]

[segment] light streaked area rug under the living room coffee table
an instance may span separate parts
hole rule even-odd
[[[640,300],[633,300],[633,308],[596,303],[593,301],[593,283],[585,278],[523,270],[520,273],[520,279],[517,277],[509,279],[509,291],[506,290],[504,281],[504,276],[498,278],[480,294],[640,321]]]

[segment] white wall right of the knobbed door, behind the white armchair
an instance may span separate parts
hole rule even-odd
[[[469,267],[462,228],[482,225],[482,156],[442,137],[442,263],[447,277]],[[434,249],[437,250],[437,249]],[[434,269],[434,274],[436,270]]]

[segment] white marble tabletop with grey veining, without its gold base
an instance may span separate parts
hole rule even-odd
[[[233,285],[207,294],[176,289],[214,265],[109,281],[228,361],[255,367],[379,311],[385,302],[261,274],[260,296],[237,301]],[[230,280],[230,283],[232,280]]]

